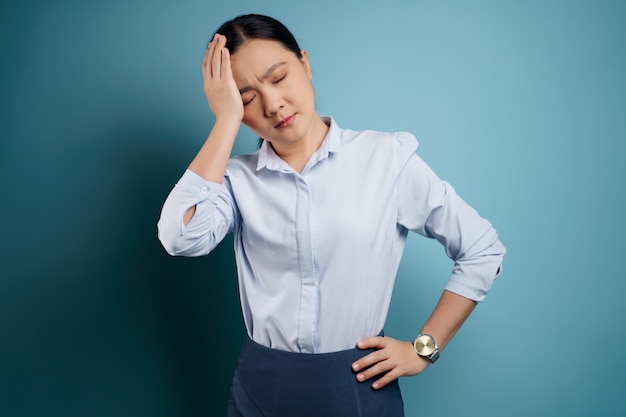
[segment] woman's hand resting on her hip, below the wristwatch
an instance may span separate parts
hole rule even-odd
[[[430,364],[415,353],[411,342],[377,336],[362,339],[356,346],[359,349],[376,349],[352,364],[355,372],[363,370],[356,376],[359,382],[384,374],[374,381],[374,389],[380,389],[401,376],[417,375]]]

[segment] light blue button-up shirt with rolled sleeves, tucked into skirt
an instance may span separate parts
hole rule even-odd
[[[187,170],[158,223],[167,252],[206,255],[234,232],[248,335],[286,351],[350,349],[378,334],[409,230],[437,239],[454,260],[446,289],[482,301],[506,252],[492,225],[417,156],[411,134],[325,121],[328,134],[301,174],[267,142],[231,158],[223,184]]]

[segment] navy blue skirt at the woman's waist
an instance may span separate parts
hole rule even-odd
[[[374,390],[352,363],[373,349],[292,353],[246,337],[228,404],[230,417],[404,417],[398,381]],[[380,378],[380,377],[378,377]]]

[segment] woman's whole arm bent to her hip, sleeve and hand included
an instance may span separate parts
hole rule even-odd
[[[398,222],[423,236],[437,239],[454,260],[452,276],[437,306],[422,328],[442,350],[487,295],[500,273],[506,249],[485,219],[464,202],[454,189],[440,180],[417,155],[414,148],[402,151],[407,161],[398,177]],[[430,362],[417,355],[412,342],[389,337],[371,337],[358,348],[377,351],[353,364],[359,381],[387,372],[373,383],[381,388],[403,375],[416,375]]]

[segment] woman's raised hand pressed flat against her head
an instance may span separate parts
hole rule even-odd
[[[233,78],[226,37],[215,34],[204,54],[202,78],[204,93],[215,119],[243,120],[243,102]]]

